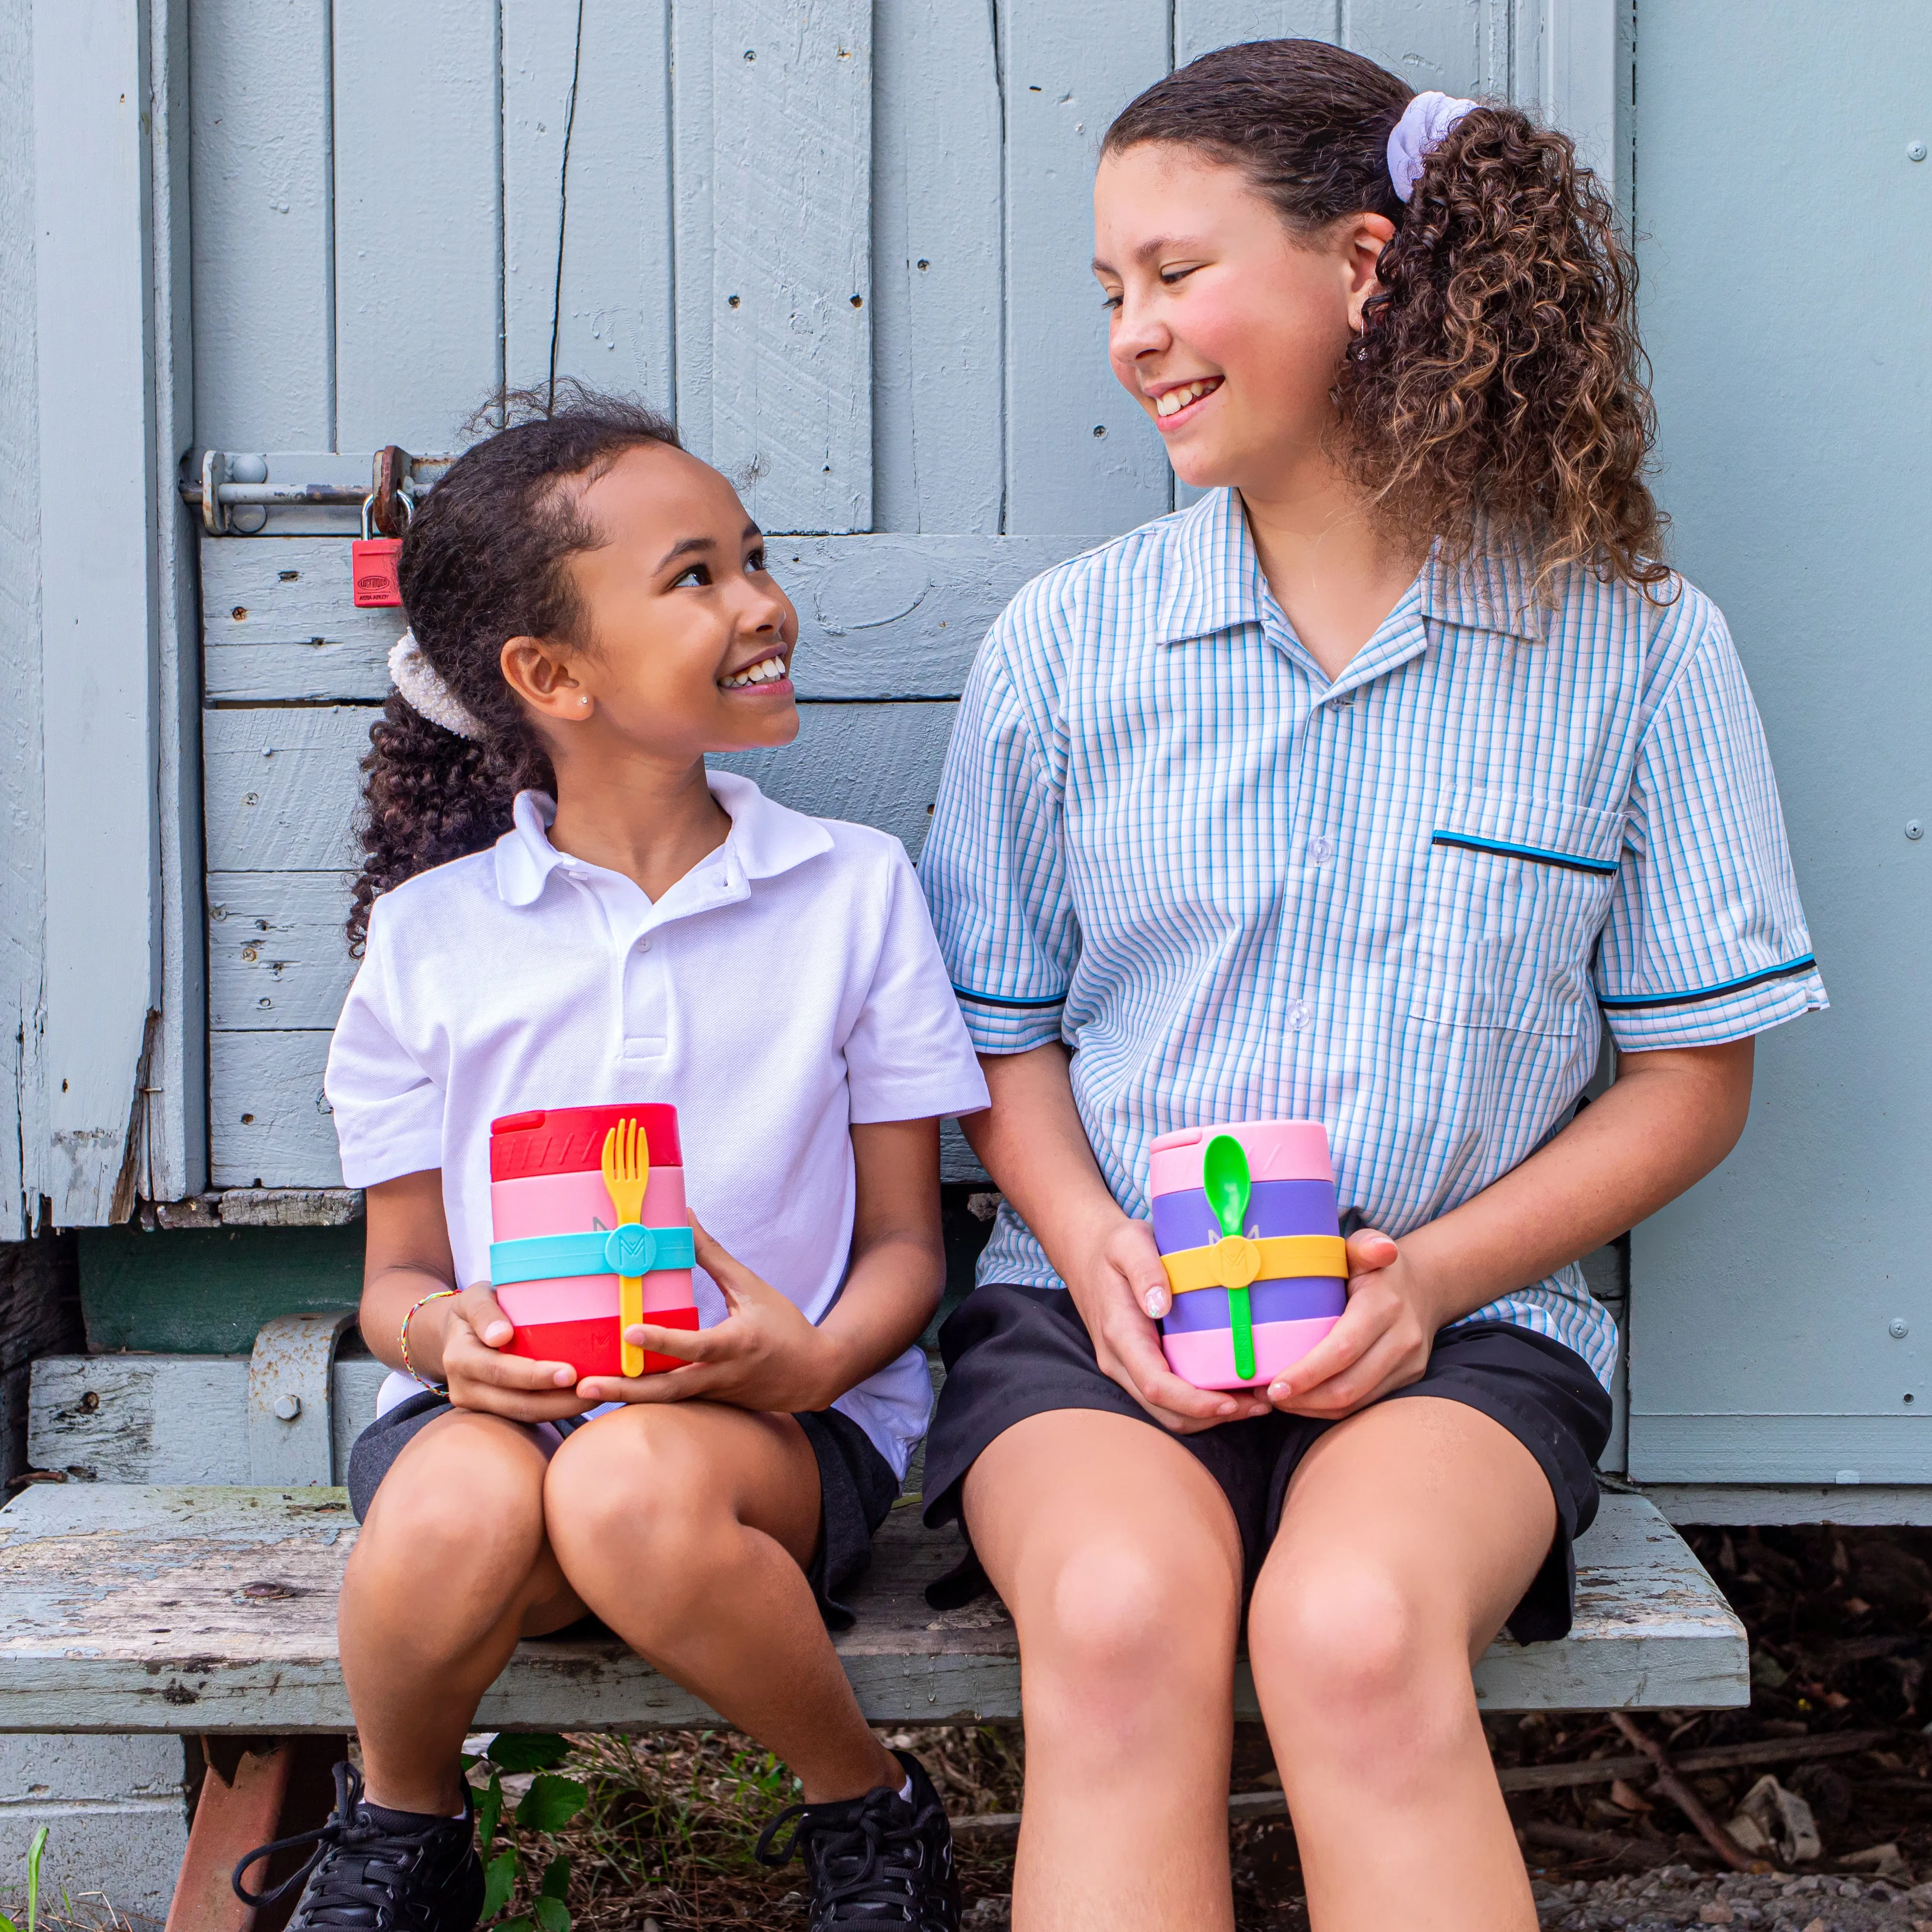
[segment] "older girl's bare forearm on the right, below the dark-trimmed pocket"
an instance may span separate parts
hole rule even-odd
[[[1405,1235],[1437,1325],[1542,1281],[1702,1180],[1745,1130],[1750,1047],[1625,1055],[1609,1092],[1520,1167]]]

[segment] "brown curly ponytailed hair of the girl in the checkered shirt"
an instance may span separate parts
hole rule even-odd
[[[1383,214],[1395,240],[1335,375],[1337,452],[1403,537],[1466,556],[1484,531],[1538,578],[1580,564],[1669,582],[1644,475],[1654,413],[1636,338],[1636,263],[1567,135],[1478,106],[1430,151],[1408,203],[1387,143],[1412,91],[1320,41],[1223,46],[1167,75],[1107,129],[1240,168],[1314,236]]]

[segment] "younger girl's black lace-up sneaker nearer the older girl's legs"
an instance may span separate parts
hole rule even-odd
[[[960,1888],[952,1872],[952,1828],[947,1808],[910,1750],[895,1758],[912,1777],[912,1799],[867,1791],[838,1804],[792,1804],[759,1833],[765,1864],[806,1857],[811,1878],[810,1932],[912,1926],[914,1932],[958,1932]],[[784,1851],[773,1841],[792,1820]]]

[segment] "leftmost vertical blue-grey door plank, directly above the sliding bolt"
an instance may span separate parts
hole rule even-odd
[[[193,440],[334,448],[328,8],[195,0],[189,33]]]

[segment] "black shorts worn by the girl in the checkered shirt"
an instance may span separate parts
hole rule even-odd
[[[925,1520],[960,1522],[960,1488],[980,1453],[1014,1422],[1053,1408],[1103,1408],[1159,1424],[1105,1376],[1074,1300],[1061,1289],[989,1283],[939,1331],[947,1381],[925,1443]],[[1573,1349],[1503,1321],[1443,1329],[1420,1381],[1381,1401],[1439,1395],[1501,1422],[1542,1464],[1557,1503],[1557,1534],[1522,1602],[1509,1613],[1517,1642],[1567,1636],[1577,1598],[1573,1544],[1596,1520],[1596,1459],[1609,1441],[1609,1395]],[[1289,1478],[1333,1422],[1254,1416],[1177,1435],[1221,1486],[1240,1526],[1244,1582],[1281,1526]],[[1165,1434],[1165,1432],[1163,1432]],[[985,1573],[968,1557],[927,1592],[935,1609],[970,1602]]]

